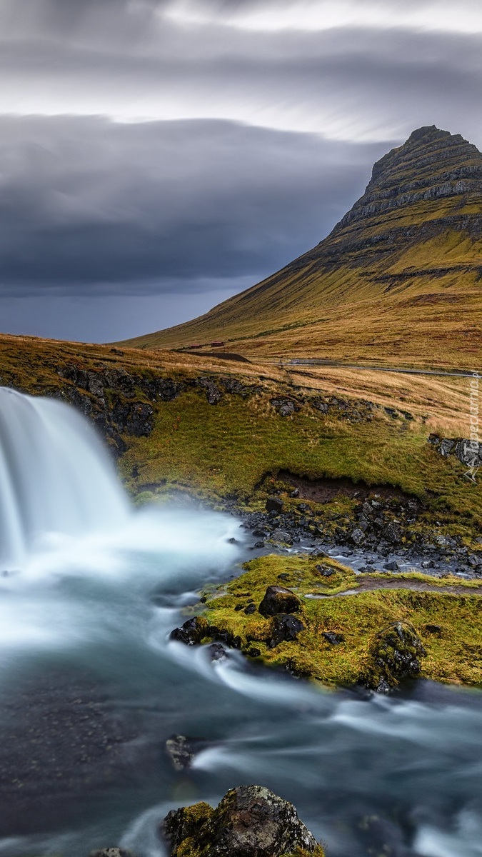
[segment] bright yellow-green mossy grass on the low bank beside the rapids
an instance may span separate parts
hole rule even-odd
[[[323,559],[322,564],[332,566],[335,572],[333,577],[324,578],[316,572],[319,563],[305,556],[272,555],[252,560],[244,574],[222,587],[221,594],[207,594],[203,615],[210,625],[241,637],[248,653],[256,647],[261,652],[258,660],[276,668],[289,666],[295,674],[328,686],[356,683],[371,669],[371,647],[377,632],[391,622],[408,621],[426,650],[422,677],[482,685],[482,596],[472,594],[470,586],[463,595],[443,592],[447,581],[437,581],[441,584],[439,592],[382,588],[340,596],[340,591],[357,589],[356,576],[334,560]],[[417,575],[416,579],[434,584],[428,575]],[[274,649],[266,643],[270,619],[234,610],[251,600],[257,606],[272,584],[282,584],[302,598],[297,615],[304,623],[296,642],[283,642]],[[330,597],[304,597],[313,592]],[[343,642],[330,644],[322,632],[334,632]]]

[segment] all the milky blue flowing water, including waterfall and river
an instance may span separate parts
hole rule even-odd
[[[292,800],[328,857],[482,854],[479,692],[323,692],[169,641],[239,572],[239,522],[132,512],[75,413],[0,406],[0,857],[160,857],[169,809],[242,783]],[[172,734],[197,739],[189,770]]]

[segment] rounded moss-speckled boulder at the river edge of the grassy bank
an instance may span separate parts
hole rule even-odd
[[[426,652],[409,622],[398,621],[377,633],[371,645],[371,668],[365,682],[377,692],[400,681],[414,679],[420,672],[420,658]]]

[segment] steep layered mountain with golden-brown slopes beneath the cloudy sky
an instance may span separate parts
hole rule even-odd
[[[268,279],[141,348],[224,340],[257,357],[477,368],[482,154],[432,125],[373,167],[334,230]]]

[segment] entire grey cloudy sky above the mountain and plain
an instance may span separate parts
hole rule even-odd
[[[482,148],[480,0],[0,0],[0,331],[186,321],[420,125]]]

